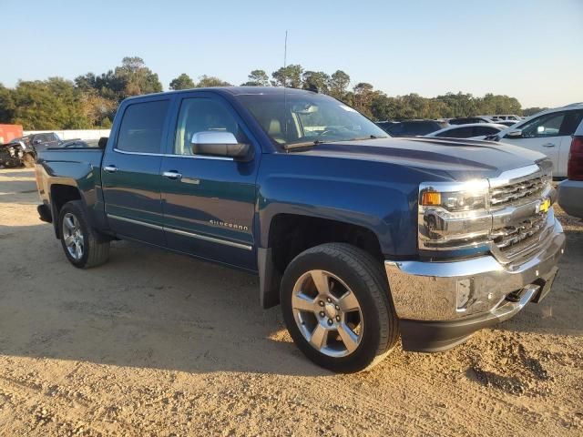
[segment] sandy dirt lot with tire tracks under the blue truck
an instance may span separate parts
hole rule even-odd
[[[334,375],[293,346],[253,276],[113,244],[74,269],[0,170],[0,435],[582,435],[583,224],[553,292],[441,354]]]

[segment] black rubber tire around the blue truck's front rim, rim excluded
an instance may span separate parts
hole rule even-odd
[[[293,315],[293,288],[306,272],[332,273],[353,291],[363,314],[358,347],[346,356],[331,357],[318,351],[302,334]],[[336,372],[364,371],[382,361],[399,338],[399,325],[382,263],[349,244],[328,243],[307,249],[292,260],[281,280],[283,319],[298,348],[314,363]]]

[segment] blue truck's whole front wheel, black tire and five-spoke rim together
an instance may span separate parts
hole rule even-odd
[[[293,259],[281,309],[298,348],[331,371],[371,368],[399,337],[382,264],[348,244],[322,244]]]

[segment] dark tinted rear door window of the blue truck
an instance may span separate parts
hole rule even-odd
[[[168,107],[168,100],[128,106],[119,127],[118,149],[126,152],[160,153]]]

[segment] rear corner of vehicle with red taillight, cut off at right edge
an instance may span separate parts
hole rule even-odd
[[[583,219],[583,122],[575,131],[567,163],[567,179],[558,184],[558,204]]]

